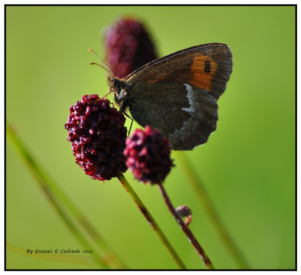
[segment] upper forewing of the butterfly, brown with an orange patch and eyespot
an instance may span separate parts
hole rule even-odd
[[[154,60],[131,73],[126,82],[181,82],[209,92],[217,100],[232,72],[232,53],[221,43],[194,46]]]

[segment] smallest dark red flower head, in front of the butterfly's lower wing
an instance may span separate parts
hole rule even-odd
[[[162,182],[171,167],[169,140],[164,138],[158,130],[149,126],[145,131],[136,129],[126,140],[124,155],[126,165],[138,180],[146,182]]]

